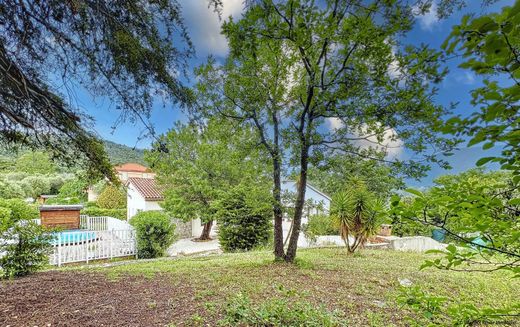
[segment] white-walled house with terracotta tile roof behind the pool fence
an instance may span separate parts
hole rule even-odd
[[[164,200],[163,192],[154,178],[128,177],[126,186],[127,219],[141,211],[163,210],[160,205]],[[175,220],[175,225],[176,233],[181,238],[199,237],[202,233],[203,224],[198,218],[190,222]]]

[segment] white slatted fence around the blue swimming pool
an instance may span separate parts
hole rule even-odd
[[[135,231],[71,231],[57,233],[50,264],[86,262],[137,255]]]

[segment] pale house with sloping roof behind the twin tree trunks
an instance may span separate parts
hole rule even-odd
[[[286,180],[282,182],[282,201],[285,207],[294,207],[294,197],[297,192],[297,182]],[[307,183],[305,190],[305,208],[302,223],[307,223],[308,217],[313,214],[327,214],[330,210],[331,198],[318,188]],[[290,219],[290,216],[285,217]]]

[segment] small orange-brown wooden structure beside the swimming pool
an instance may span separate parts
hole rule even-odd
[[[79,212],[82,205],[42,205],[40,219],[42,226],[63,229],[79,229]]]

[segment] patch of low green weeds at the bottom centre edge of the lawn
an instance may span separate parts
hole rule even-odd
[[[289,296],[254,305],[246,295],[239,293],[228,301],[219,325],[339,327],[346,323],[337,312],[301,300],[291,301]]]

